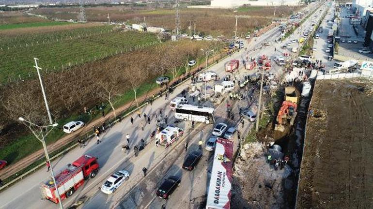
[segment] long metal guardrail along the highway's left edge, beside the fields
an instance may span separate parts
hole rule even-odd
[[[231,53],[231,55],[232,55],[233,53],[235,53],[235,52],[237,52],[237,50],[234,50],[234,51]],[[217,55],[217,56],[218,56],[218,55]],[[226,54],[226,55],[223,56],[220,60],[224,60],[224,59],[227,58],[228,56],[230,56],[230,54]],[[218,62],[214,62],[214,61],[213,61],[210,65],[208,65],[208,67],[207,67],[206,69],[208,69],[208,68],[211,67],[211,66],[214,66],[214,65],[217,64],[217,63],[218,63]],[[206,69],[202,69],[201,71],[206,70]],[[198,70],[197,70],[196,72],[198,72]],[[176,87],[178,87],[178,86],[184,84],[185,82],[190,81],[189,78],[190,78],[191,76],[192,76],[192,75],[186,77],[186,79],[184,79],[184,80],[181,81],[180,83],[176,84],[176,85],[173,86],[172,88],[176,88]],[[161,97],[161,96],[164,95],[166,92],[168,92],[168,91],[162,91],[162,93],[157,94],[157,96],[155,96],[155,99]],[[116,119],[116,120],[114,120],[114,121],[112,122],[112,125],[115,125],[117,122],[119,122],[120,120],[122,120],[122,118],[126,118],[127,116],[131,115],[132,113],[136,112],[137,110],[141,109],[143,106],[145,106],[145,105],[147,105],[147,104],[148,104],[148,103],[146,102],[146,100],[144,100],[143,104],[141,104],[139,107],[134,108],[133,110],[131,110],[130,112],[124,114],[123,116],[119,116],[121,119],[119,119],[119,117],[118,117],[118,119]],[[131,107],[129,107],[129,108],[131,108]],[[84,139],[84,141],[85,141],[85,142],[86,142],[86,141],[89,141],[90,139],[93,138],[93,136],[94,136],[94,134],[90,134],[90,135],[88,135],[88,136]],[[61,152],[59,152],[59,153],[57,153],[56,155],[52,156],[52,157],[50,158],[50,160],[54,160],[54,159],[58,158],[59,156],[61,156],[62,154],[66,154],[70,149],[73,149],[73,148],[77,147],[78,145],[79,145],[78,143],[74,143],[74,144],[71,145],[70,147],[68,147],[68,148],[66,148],[66,149],[63,149]],[[31,169],[28,170],[26,173],[22,174],[21,176],[17,177],[16,179],[13,179],[13,180],[9,181],[8,183],[6,183],[6,184],[3,185],[2,187],[0,187],[0,192],[2,192],[4,189],[8,188],[9,186],[13,185],[13,184],[16,183],[17,181],[23,179],[24,177],[30,175],[31,173],[33,173],[34,171],[36,171],[37,169],[39,169],[39,168],[42,167],[42,166],[45,166],[45,162],[36,165],[35,167],[31,168]]]

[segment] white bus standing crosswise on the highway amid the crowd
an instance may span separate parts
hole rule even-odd
[[[185,121],[213,123],[215,109],[211,107],[194,106],[191,104],[177,105],[175,108],[175,118]]]

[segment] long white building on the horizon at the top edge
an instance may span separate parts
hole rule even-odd
[[[251,6],[277,6],[277,5],[297,5],[300,0],[211,0],[211,7],[234,8],[243,5]]]

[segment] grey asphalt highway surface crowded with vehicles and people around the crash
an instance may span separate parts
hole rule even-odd
[[[314,6],[314,4],[311,4]],[[310,6],[310,7],[311,7]],[[309,24],[310,21],[306,21],[305,24]],[[245,50],[241,50],[234,53],[232,57],[228,57],[217,64],[209,68],[209,71],[216,72],[221,79],[224,78],[226,73],[224,72],[224,64],[231,59],[246,60],[246,57],[257,58],[259,55],[266,54],[271,55],[271,58],[277,53],[281,54],[282,51],[277,50],[275,52],[275,47],[280,49],[282,44],[274,44],[273,40],[280,36],[279,28],[274,28],[267,31],[264,35],[256,37],[256,41],[252,42],[251,45],[245,45],[248,49],[252,49],[253,46],[257,50],[250,50],[249,53]],[[290,39],[295,39],[296,37],[291,37]],[[261,43],[264,41],[272,42],[272,45],[260,48]],[[281,68],[272,62],[271,72],[276,75],[282,74]],[[240,70],[237,74],[238,79],[243,80],[244,75],[249,75],[254,73],[253,71],[244,70],[240,63]],[[216,81],[218,83],[221,81]],[[183,89],[186,89],[190,85],[190,81],[177,87],[173,93],[170,95],[170,100],[176,97]],[[213,85],[213,83],[209,83]],[[257,92],[256,92],[257,95]],[[191,101],[191,98],[187,98]],[[256,98],[257,99],[257,98]],[[213,125],[196,124],[195,129],[191,129],[189,122],[179,122],[176,125],[183,128],[186,134],[177,141],[171,147],[165,149],[162,146],[155,147],[154,141],[150,140],[150,133],[156,128],[154,114],[159,113],[162,109],[164,114],[170,119],[169,123],[174,121],[174,117],[170,108],[168,107],[170,100],[165,100],[164,97],[155,100],[152,105],[147,105],[141,110],[141,113],[146,113],[152,116],[151,124],[146,124],[144,130],[141,131],[140,123],[144,123],[143,118],[137,118],[134,114],[135,119],[134,125],[130,123],[130,119],[125,118],[121,123],[118,123],[108,130],[107,133],[101,136],[102,143],[96,144],[96,141],[91,140],[87,146],[83,149],[73,149],[66,155],[58,158],[56,161],[52,162],[52,165],[56,171],[62,169],[66,164],[72,163],[78,157],[83,154],[90,154],[98,157],[98,162],[100,164],[100,171],[96,178],[88,180],[81,188],[76,191],[76,193],[63,200],[63,206],[66,208],[73,203],[75,203],[80,197],[87,196],[89,200],[85,203],[84,208],[160,208],[162,204],[166,204],[166,201],[155,198],[155,189],[159,183],[164,179],[164,176],[168,175],[181,175],[182,184],[179,189],[175,191],[171,199],[167,201],[168,208],[178,208],[191,206],[191,201],[193,199],[199,200],[201,196],[206,192],[206,182],[208,181],[208,176],[205,175],[206,171],[208,173],[209,166],[211,164],[211,156],[208,151],[203,150],[203,158],[196,167],[194,171],[184,171],[181,169],[181,164],[184,161],[185,151],[184,151],[184,141],[189,140],[189,151],[198,149],[197,142],[199,138],[204,141],[211,133]],[[244,101],[242,101],[245,103]],[[235,104],[238,106],[247,106],[247,104],[240,104],[237,102]],[[211,105],[211,104],[209,104]],[[224,107],[223,104],[218,106],[218,109]],[[252,106],[254,107],[254,106]],[[238,110],[235,110],[238,112]],[[224,108],[220,111],[218,121],[227,121],[230,125],[235,124],[238,120],[238,114],[236,114],[235,120],[229,120],[224,117]],[[245,129],[250,124],[247,123]],[[202,129],[203,128],[203,129]],[[125,135],[130,134],[130,148],[131,152],[129,154],[124,154],[121,151],[121,146],[126,144]],[[135,157],[133,153],[134,145],[140,144],[140,139],[145,140],[146,147],[144,150],[140,151],[139,157]],[[141,169],[147,167],[149,175],[144,179]],[[102,183],[108,179],[109,175],[114,171],[125,169],[131,174],[129,180],[122,185],[114,194],[107,195],[101,193],[99,187]],[[48,179],[49,173],[46,172],[47,168],[36,171],[27,178],[19,181],[9,189],[5,190],[0,194],[0,208],[5,209],[56,209],[58,205],[43,200],[40,193],[40,182]],[[198,185],[198,186],[197,186]],[[143,192],[145,191],[145,192]],[[143,192],[143,193],[142,193]],[[179,198],[178,198],[179,197]],[[192,199],[192,200],[191,200]],[[198,202],[198,201],[197,201]]]

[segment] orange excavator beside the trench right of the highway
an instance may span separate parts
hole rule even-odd
[[[290,126],[294,124],[296,116],[297,105],[289,101],[283,101],[279,114],[277,115],[277,123],[275,125],[275,131],[283,132],[285,130],[284,124],[289,123]],[[285,119],[283,121],[283,119]],[[290,122],[288,122],[290,119]]]

